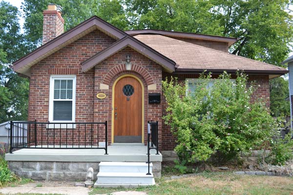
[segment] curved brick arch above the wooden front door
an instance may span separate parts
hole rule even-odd
[[[135,73],[138,73],[139,75],[141,75],[144,78],[144,80],[146,81],[146,85],[154,84],[154,80],[153,80],[152,76],[149,74],[149,72],[144,67],[139,66],[135,63],[131,66],[130,70],[126,70],[125,64],[119,64],[119,65],[113,67],[105,75],[102,83],[105,85],[110,85],[111,80],[115,76],[117,76],[119,73],[128,72],[128,71],[135,72]]]

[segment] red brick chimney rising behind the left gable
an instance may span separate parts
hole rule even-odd
[[[43,11],[43,37],[42,44],[52,40],[64,32],[64,20],[61,16],[62,7],[49,4]]]

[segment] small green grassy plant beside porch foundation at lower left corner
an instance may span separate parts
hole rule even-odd
[[[11,173],[4,156],[0,156],[0,187],[5,186],[7,183],[16,182],[21,180],[18,176]]]

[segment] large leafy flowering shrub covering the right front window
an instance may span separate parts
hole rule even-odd
[[[230,78],[224,73],[212,80],[203,73],[194,93],[176,78],[162,82],[167,100],[163,118],[177,137],[180,160],[206,161],[216,152],[228,160],[270,141],[276,126],[265,101],[251,101],[256,86],[243,73],[237,73],[235,82]]]

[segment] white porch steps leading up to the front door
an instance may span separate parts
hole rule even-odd
[[[148,164],[145,162],[100,162],[100,171],[94,187],[139,187],[155,185],[150,163],[150,175]]]

